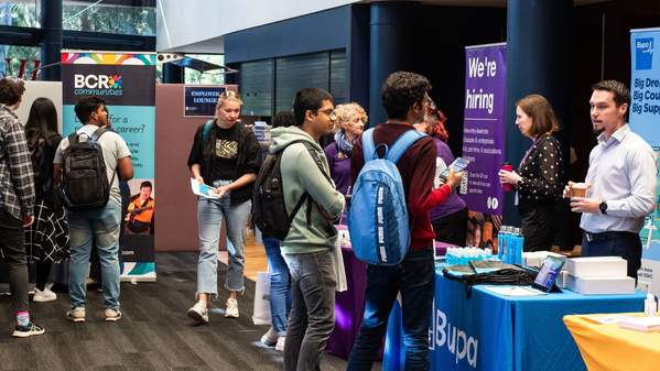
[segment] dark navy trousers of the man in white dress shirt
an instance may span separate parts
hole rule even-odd
[[[639,233],[616,232],[605,239],[591,242],[583,233],[582,257],[621,257],[628,262],[628,276],[637,280],[637,271],[641,266]]]

